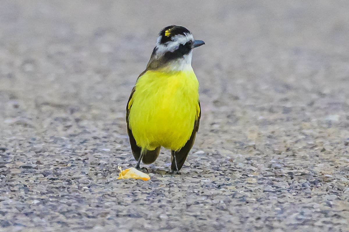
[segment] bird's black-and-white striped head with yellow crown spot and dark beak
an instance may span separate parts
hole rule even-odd
[[[191,68],[192,50],[205,42],[194,40],[192,33],[183,26],[166,26],[159,33],[147,69],[168,67],[172,70]]]

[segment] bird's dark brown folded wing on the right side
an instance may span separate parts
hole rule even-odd
[[[184,162],[187,159],[187,156],[194,145],[196,133],[199,130],[200,118],[201,118],[200,101],[199,101],[199,109],[200,109],[199,117],[198,117],[198,119],[195,120],[192,135],[190,136],[190,138],[188,139],[186,144],[179,151],[171,151],[171,153],[176,156],[178,171],[183,167]],[[171,160],[171,162],[172,162],[171,163],[171,170],[172,171],[176,170],[176,163],[174,163],[174,160]]]

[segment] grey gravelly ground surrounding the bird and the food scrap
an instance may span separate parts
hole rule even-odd
[[[0,231],[349,231],[348,1],[1,1]],[[186,26],[202,118],[182,175],[125,106]]]

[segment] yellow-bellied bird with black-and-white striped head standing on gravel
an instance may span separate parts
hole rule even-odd
[[[180,174],[199,129],[199,82],[192,68],[194,40],[183,26],[166,26],[157,37],[146,69],[139,75],[126,105],[127,133],[133,157],[150,164],[160,148],[171,150],[171,171]]]

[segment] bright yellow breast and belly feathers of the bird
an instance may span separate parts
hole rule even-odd
[[[200,113],[198,88],[192,69],[143,74],[136,82],[128,118],[137,145],[181,149]]]

